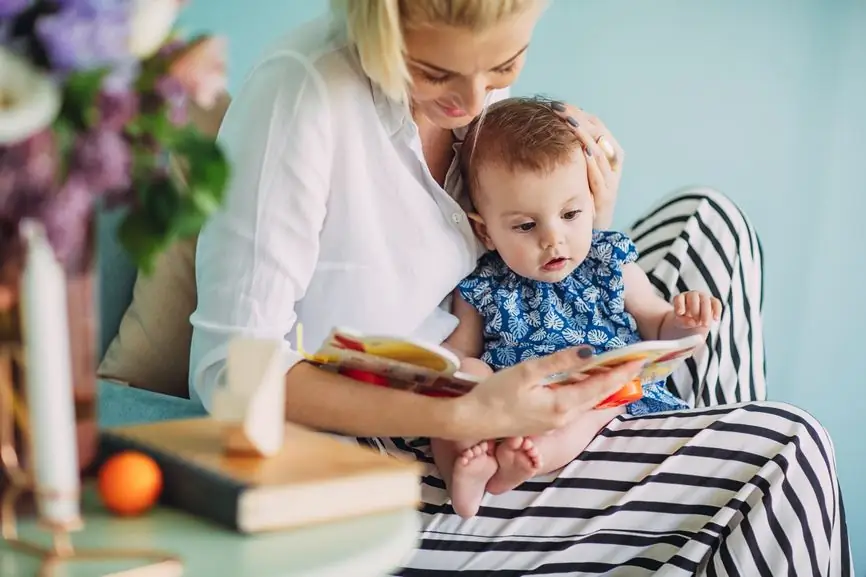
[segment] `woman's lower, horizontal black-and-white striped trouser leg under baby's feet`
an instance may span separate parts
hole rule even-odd
[[[787,405],[619,417],[558,474],[486,496],[470,520],[426,440],[382,443],[427,466],[424,531],[399,575],[849,574],[832,444]]]

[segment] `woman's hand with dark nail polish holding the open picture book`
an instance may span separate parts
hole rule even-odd
[[[594,410],[643,366],[635,361],[567,385],[540,384],[555,373],[577,372],[591,358],[589,347],[571,348],[524,361],[485,379],[471,393],[454,400],[455,426],[449,428],[459,433],[455,440],[538,435],[561,428]]]

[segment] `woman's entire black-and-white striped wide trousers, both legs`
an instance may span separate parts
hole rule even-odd
[[[365,439],[427,464],[425,528],[395,574],[853,575],[827,432],[763,402],[751,225],[724,196],[689,190],[631,232],[664,296],[704,289],[726,305],[706,352],[669,382],[698,408],[618,417],[558,474],[486,496],[469,520],[453,513],[426,439]]]

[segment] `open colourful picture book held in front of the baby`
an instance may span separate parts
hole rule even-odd
[[[376,385],[412,391],[422,395],[454,397],[469,392],[479,378],[460,370],[460,359],[448,349],[415,339],[365,335],[337,327],[315,353],[303,350],[298,328],[298,349],[310,362]],[[550,375],[543,383],[574,383],[633,360],[644,360],[644,367],[633,383],[598,408],[625,404],[640,399],[641,387],[667,378],[695,349],[704,337],[694,335],[674,341],[644,341],[594,357],[580,373]]]

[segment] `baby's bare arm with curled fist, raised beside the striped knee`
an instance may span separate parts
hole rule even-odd
[[[644,340],[674,340],[694,334],[706,335],[713,320],[721,314],[721,302],[707,294],[692,291],[677,295],[677,310],[655,292],[646,273],[636,263],[622,267],[625,310],[637,322]],[[697,310],[687,306],[697,303]],[[706,310],[704,310],[706,309]]]

